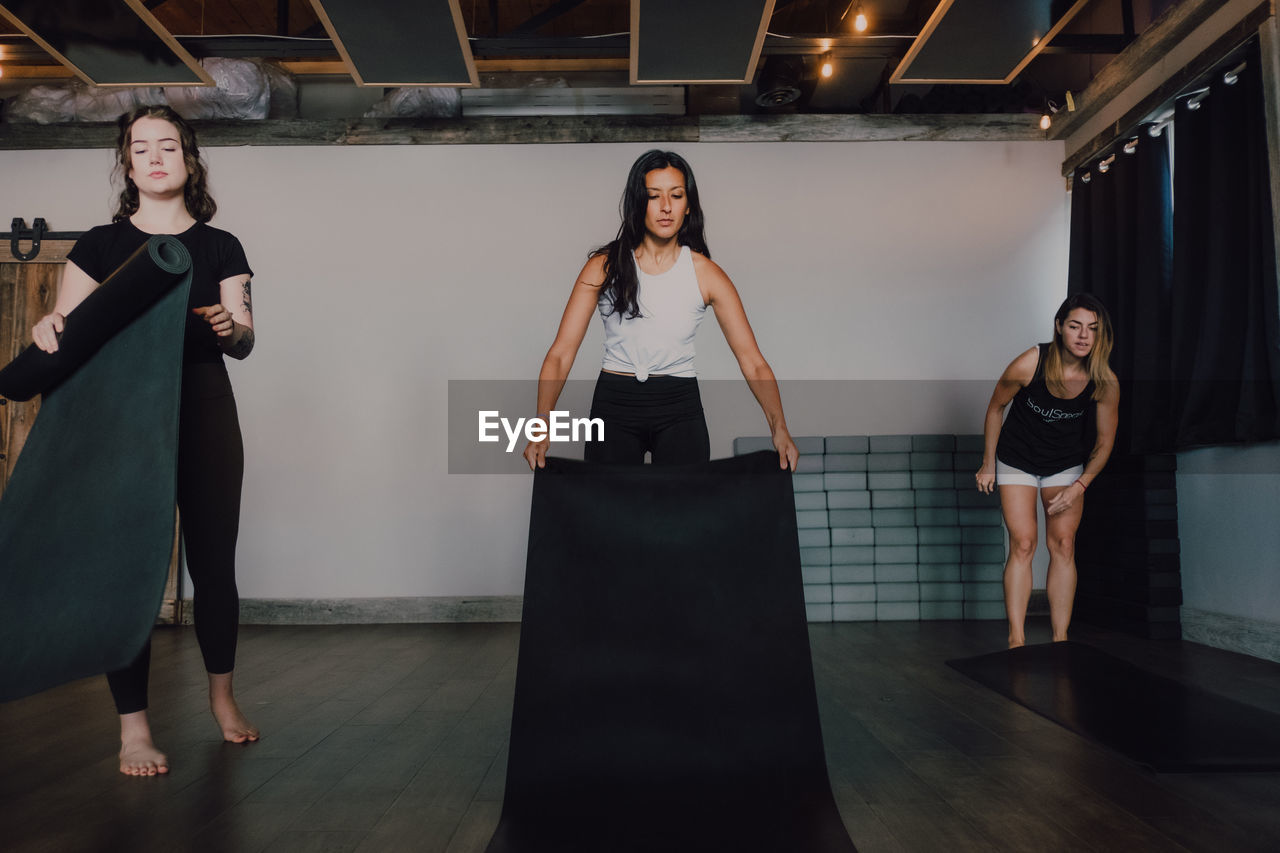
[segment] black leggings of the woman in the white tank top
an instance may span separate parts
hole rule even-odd
[[[687,465],[712,457],[698,379],[635,377],[600,371],[591,418],[604,421],[604,441],[588,442],[588,462],[641,465],[645,451],[654,465]]]

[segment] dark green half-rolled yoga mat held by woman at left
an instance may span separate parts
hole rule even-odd
[[[60,357],[0,496],[0,701],[120,669],[155,622],[173,549],[191,257],[152,237],[67,318]],[[6,392],[8,393],[8,392]]]

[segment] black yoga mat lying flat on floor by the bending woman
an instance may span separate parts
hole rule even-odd
[[[1157,772],[1280,770],[1280,716],[1091,646],[1024,646],[947,663]]]

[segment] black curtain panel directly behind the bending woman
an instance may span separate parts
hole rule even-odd
[[[1068,291],[1093,293],[1111,314],[1120,452],[1160,450],[1169,441],[1174,232],[1167,137],[1143,129],[1132,154],[1117,150],[1106,172],[1092,164],[1073,181]]]

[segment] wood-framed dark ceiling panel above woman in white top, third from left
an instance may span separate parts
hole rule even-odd
[[[632,83],[750,83],[774,0],[631,0]]]

